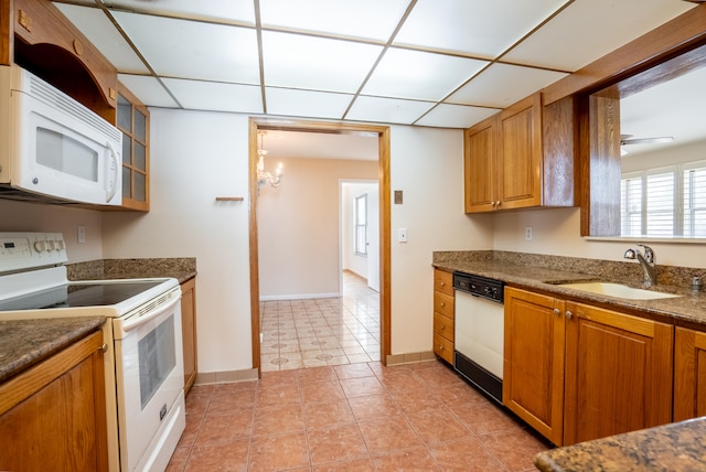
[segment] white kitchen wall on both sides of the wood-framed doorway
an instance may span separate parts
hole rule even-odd
[[[151,127],[152,210],[104,215],[103,256],[196,257],[199,369],[249,368],[248,118],[152,109]],[[492,219],[463,214],[461,155],[459,130],[392,129],[393,354],[431,350],[431,253],[492,247]]]

